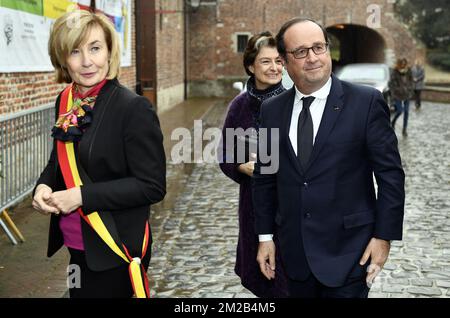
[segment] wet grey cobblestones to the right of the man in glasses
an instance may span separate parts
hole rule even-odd
[[[408,137],[397,121],[406,174],[403,241],[393,242],[370,297],[450,296],[449,118],[449,104],[411,107]]]

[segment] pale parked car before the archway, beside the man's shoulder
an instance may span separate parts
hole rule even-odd
[[[389,93],[389,66],[382,63],[357,63],[347,64],[339,69],[336,76],[347,82],[372,86],[379,90],[388,105],[390,102]]]

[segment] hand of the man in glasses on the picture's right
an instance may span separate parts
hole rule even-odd
[[[372,286],[375,277],[381,272],[384,263],[386,263],[390,248],[391,243],[389,241],[377,238],[372,238],[367,245],[359,264],[363,266],[370,257],[370,265],[367,268],[366,277],[367,286],[369,286],[369,288]]]

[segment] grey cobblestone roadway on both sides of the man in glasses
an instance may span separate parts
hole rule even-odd
[[[372,298],[450,296],[450,105],[422,108],[410,113],[408,137],[401,135],[402,118],[397,122],[406,172],[404,237],[393,242]],[[237,185],[211,164],[195,166],[185,184],[173,206],[152,216],[153,296],[253,297],[233,272]]]

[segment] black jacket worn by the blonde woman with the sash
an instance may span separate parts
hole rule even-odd
[[[59,100],[60,97],[56,113]],[[163,136],[148,100],[117,80],[108,81],[97,97],[93,122],[79,142],[78,156],[92,180],[81,187],[83,211],[86,214],[103,211],[107,215],[106,222],[115,223],[115,228],[110,229],[113,237],[120,237],[132,257],[140,257],[149,206],[161,201],[166,193]],[[56,143],[37,182],[42,183],[53,191],[65,190]],[[59,218],[51,217],[49,257],[63,245]],[[124,264],[84,220],[81,224],[86,261],[91,270],[103,271]]]

